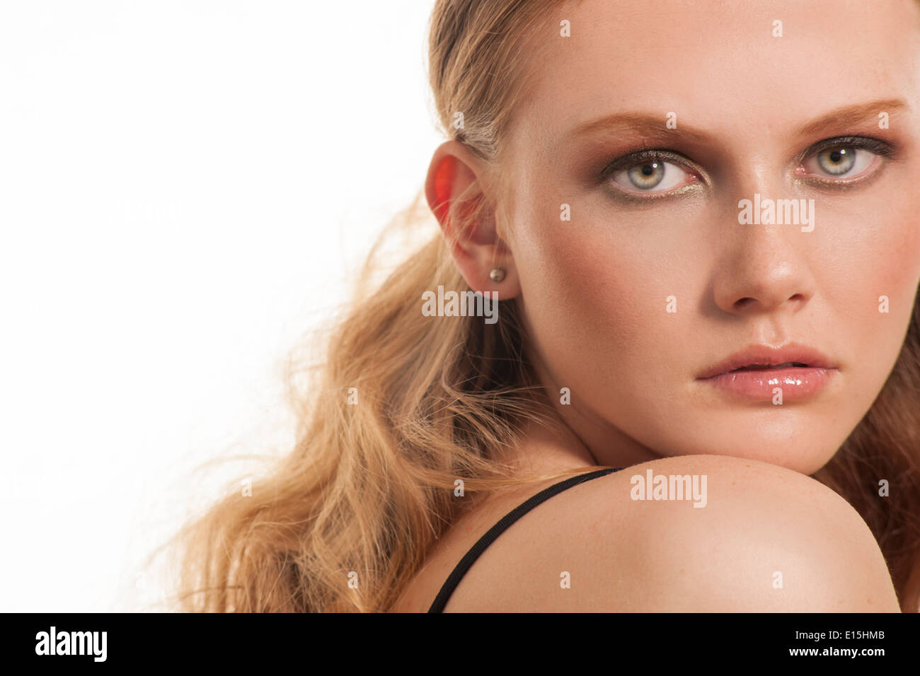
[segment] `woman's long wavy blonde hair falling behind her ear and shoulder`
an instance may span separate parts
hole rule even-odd
[[[529,40],[553,29],[563,0],[437,0],[429,77],[443,131],[487,163],[500,155],[526,88]],[[454,113],[464,125],[454,127]],[[475,219],[481,194],[450,205]],[[462,209],[464,203],[468,208]],[[428,218],[424,218],[428,216]],[[177,535],[175,601],[187,611],[388,610],[439,537],[477,497],[499,487],[578,474],[520,476],[505,452],[524,421],[559,424],[527,361],[518,306],[499,320],[432,319],[422,293],[467,291],[421,195],[391,230],[425,243],[380,281],[375,246],[355,300],[321,346],[315,369],[292,354],[287,383],[296,443],[251,494],[228,490]],[[420,239],[422,237],[422,239]],[[382,240],[383,241],[383,240]],[[380,243],[378,242],[378,246]],[[815,478],[867,521],[903,609],[920,555],[920,315],[888,382]],[[304,381],[303,376],[307,377]],[[298,383],[298,379],[301,379]],[[877,482],[891,483],[879,498]],[[457,480],[466,497],[456,497]]]

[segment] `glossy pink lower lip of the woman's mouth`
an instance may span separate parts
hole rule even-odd
[[[711,378],[700,378],[720,390],[753,401],[770,401],[776,387],[782,389],[783,401],[817,395],[837,373],[836,369],[787,366],[780,369],[732,371]]]

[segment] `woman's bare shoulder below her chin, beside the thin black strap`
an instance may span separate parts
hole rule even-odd
[[[446,612],[893,612],[866,523],[810,476],[717,455],[569,488],[515,522]]]

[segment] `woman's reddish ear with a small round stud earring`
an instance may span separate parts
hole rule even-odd
[[[466,145],[446,141],[431,157],[425,195],[469,288],[498,292],[499,300],[505,300],[520,294],[521,285],[512,251],[496,230],[495,212],[482,180],[484,172],[482,161]],[[481,208],[474,215],[477,206]],[[501,281],[489,277],[496,268],[505,271]]]

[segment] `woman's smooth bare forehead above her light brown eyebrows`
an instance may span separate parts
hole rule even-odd
[[[777,132],[827,110],[901,97],[920,109],[915,0],[581,0],[535,35],[513,118],[562,140],[585,120],[673,111],[714,132]],[[570,37],[559,35],[559,21]],[[777,23],[781,22],[781,23]],[[779,37],[778,32],[782,34]]]

